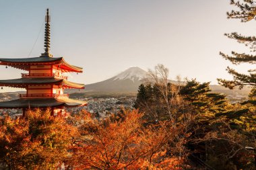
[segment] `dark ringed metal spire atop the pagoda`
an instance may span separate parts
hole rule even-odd
[[[46,9],[46,15],[45,15],[45,31],[44,31],[44,53],[42,53],[41,56],[48,56],[53,57],[52,54],[50,54],[50,22],[51,17],[49,15],[49,8]]]

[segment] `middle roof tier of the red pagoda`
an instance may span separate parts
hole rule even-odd
[[[23,77],[20,79],[0,80],[0,86],[25,88],[27,85],[63,85],[67,88],[84,89],[84,84],[73,83],[55,77]]]

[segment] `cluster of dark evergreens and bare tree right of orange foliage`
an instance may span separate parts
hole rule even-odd
[[[190,150],[193,156],[216,169],[251,168],[252,160],[245,146],[255,146],[253,105],[231,105],[225,95],[212,93],[210,83],[195,79],[183,85],[172,84],[163,65],[151,74],[150,83],[141,85],[145,88],[138,91],[137,107],[145,112],[146,122],[157,118],[176,129],[176,141],[172,137],[168,142],[170,153],[180,142],[177,148],[183,148],[183,153]]]

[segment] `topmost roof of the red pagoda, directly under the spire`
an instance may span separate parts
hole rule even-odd
[[[0,65],[7,65],[16,69],[29,71],[30,65],[59,65],[63,72],[82,73],[82,67],[69,65],[63,57],[38,56],[32,58],[0,58]]]

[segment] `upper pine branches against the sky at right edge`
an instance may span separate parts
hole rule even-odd
[[[243,0],[241,1],[230,1],[231,5],[234,5],[238,7],[238,11],[230,11],[227,13],[228,18],[234,18],[234,19],[241,19],[241,22],[249,22],[253,18],[255,18],[256,15],[256,4],[253,0]],[[228,38],[234,39],[237,42],[241,44],[245,44],[245,46],[249,46],[251,48],[251,52],[256,51],[256,37],[255,36],[243,36],[241,34],[238,34],[237,32],[232,32],[231,34],[224,34]],[[239,65],[241,63],[249,63],[252,65],[255,65],[256,63],[256,56],[254,54],[246,54],[246,53],[238,53],[238,52],[231,52],[231,55],[224,54],[223,52],[220,52],[220,55],[223,56],[226,60],[230,60],[232,64]],[[234,69],[231,69],[230,67],[227,68],[228,73],[230,73],[233,76],[232,81],[228,81],[225,79],[218,79],[220,85],[223,85],[224,87],[228,87],[230,89],[234,89],[234,87],[239,87],[242,89],[245,85],[253,87],[253,90],[251,91],[250,97],[255,97],[255,88],[256,88],[256,69],[249,70],[249,74],[242,74],[238,73]]]

